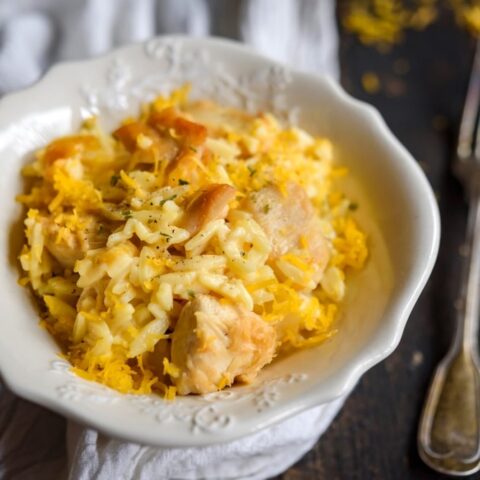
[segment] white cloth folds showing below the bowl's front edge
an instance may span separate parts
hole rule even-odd
[[[204,448],[153,448],[68,425],[69,479],[265,480],[285,471],[316,443],[341,398],[233,442]]]

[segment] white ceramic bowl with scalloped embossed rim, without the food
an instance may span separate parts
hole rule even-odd
[[[54,137],[98,114],[107,128],[139,103],[184,82],[193,95],[275,112],[325,135],[349,167],[344,188],[369,234],[367,267],[351,278],[338,334],[274,362],[252,386],[165,403],[121,395],[69,372],[17,285],[22,244],[21,166]],[[432,270],[439,242],[435,198],[422,171],[378,112],[321,76],[289,71],[236,43],[163,37],[53,68],[0,102],[0,369],[18,395],[109,435],[159,446],[239,438],[348,393],[389,355]]]

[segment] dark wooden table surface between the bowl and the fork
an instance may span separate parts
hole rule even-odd
[[[397,350],[362,378],[315,448],[278,479],[447,478],[421,462],[416,433],[433,369],[453,328],[467,208],[450,161],[474,46],[446,11],[426,31],[408,33],[388,54],[341,34],[344,87],[380,110],[433,186],[442,218],[440,254]],[[409,71],[395,73],[405,70],[404,60]],[[380,79],[376,94],[362,89],[368,71]]]

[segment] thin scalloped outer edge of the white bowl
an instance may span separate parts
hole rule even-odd
[[[207,50],[210,46],[221,46],[222,48],[229,50],[232,55],[234,55],[236,52],[239,52],[242,55],[249,55],[252,58],[260,59],[266,65],[282,66],[280,63],[258,54],[248,47],[231,40],[211,37],[201,39],[196,38],[192,40],[189,37],[183,36],[163,36],[158,38],[182,41],[186,44],[195,41],[201,44],[202,47],[207,48]],[[43,78],[41,78],[34,85],[24,90],[4,96],[0,100],[0,115],[6,107],[11,108],[11,106],[16,102],[27,100],[28,96],[30,95],[38,95],[42,91],[50,89],[51,85],[56,82],[57,77],[72,68],[77,68],[79,66],[88,68],[89,66],[94,66],[98,62],[111,60],[114,57],[121,55],[122,52],[126,52],[132,47],[140,47],[143,44],[144,42],[124,46],[92,59],[59,63],[50,68]],[[418,193],[422,196],[422,199],[426,201],[428,215],[431,217],[432,221],[431,231],[423,233],[425,236],[423,241],[429,245],[428,251],[425,252],[424,267],[417,276],[412,276],[409,279],[408,284],[405,285],[401,292],[397,292],[395,299],[392,300],[394,305],[392,309],[396,312],[396,315],[392,315],[390,318],[384,319],[384,322],[382,323],[382,340],[370,343],[368,348],[361,350],[358,355],[352,359],[350,364],[346,364],[340,371],[338,371],[333,384],[329,384],[328,391],[325,391],[325,388],[322,387],[322,385],[315,385],[314,388],[312,388],[310,395],[302,398],[296,398],[295,401],[290,401],[290,403],[279,406],[276,409],[275,415],[272,415],[272,418],[269,419],[269,421],[262,424],[257,424],[256,427],[249,428],[247,430],[237,428],[233,433],[222,433],[218,436],[218,438],[210,440],[207,440],[202,436],[198,436],[196,439],[192,437],[191,442],[183,442],[181,444],[176,444],[175,440],[172,440],[172,445],[203,446],[222,441],[234,440],[254,433],[266,426],[280,422],[281,420],[284,420],[294,414],[298,414],[308,408],[333,401],[345,394],[348,394],[367,370],[385,359],[397,347],[408,317],[416,301],[418,300],[420,293],[422,292],[435,264],[440,241],[440,217],[437,202],[423,171],[409,154],[409,152],[405,149],[405,147],[403,147],[403,145],[389,130],[380,113],[371,105],[368,105],[350,96],[330,77],[299,72],[292,68],[288,68],[288,71],[293,76],[293,83],[295,83],[297,78],[315,81],[319,85],[319,88],[324,89],[328,94],[331,94],[333,97],[335,97],[335,101],[343,103],[356,116],[361,117],[363,121],[372,124],[378,135],[383,137],[384,142],[389,145],[389,148],[396,151],[396,153],[402,157],[403,168],[408,170],[409,175],[416,177],[416,180],[418,180],[420,185]],[[152,435],[146,437],[138,432],[125,432],[125,429],[122,427],[111,424],[106,425],[104,422],[102,422],[101,418],[90,417],[87,412],[84,412],[76,404],[66,402],[49,394],[45,394],[45,392],[38,390],[35,386],[22,382],[22,379],[18,378],[16,375],[15,368],[11,368],[8,364],[8,361],[5,361],[5,359],[2,358],[1,352],[0,359],[2,360],[0,362],[0,373],[3,380],[8,387],[19,396],[32,402],[41,404],[44,407],[57,411],[69,418],[80,421],[81,423],[91,425],[94,428],[114,437],[158,446],[168,445],[168,441],[165,438],[159,439]]]

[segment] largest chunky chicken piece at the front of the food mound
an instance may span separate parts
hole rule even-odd
[[[173,379],[180,395],[215,392],[235,380],[251,382],[273,359],[273,327],[242,307],[198,295],[182,310],[172,336]],[[219,387],[220,386],[220,387]]]

